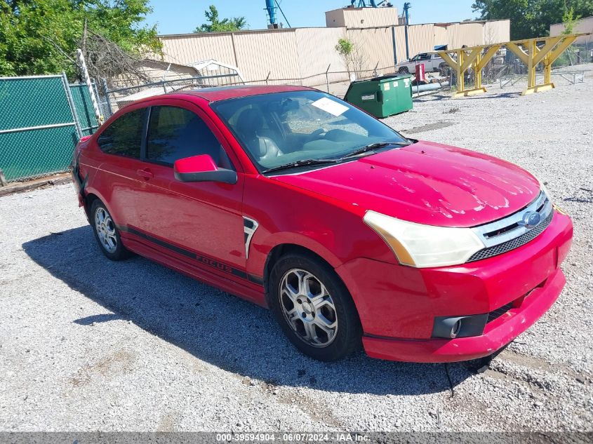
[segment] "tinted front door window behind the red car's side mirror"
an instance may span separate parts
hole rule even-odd
[[[147,160],[172,166],[178,159],[199,154],[208,154],[221,168],[232,168],[220,142],[199,116],[178,107],[152,107]]]

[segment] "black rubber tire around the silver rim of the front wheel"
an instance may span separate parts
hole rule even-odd
[[[317,278],[327,289],[328,297],[332,302],[331,307],[335,307],[333,311],[335,333],[331,342],[325,346],[309,344],[297,331],[298,327],[295,327],[295,330],[284,314],[285,309],[282,308],[282,304],[285,304],[286,307],[286,295],[283,296],[284,300],[281,300],[280,288],[284,278],[291,276],[295,269],[306,271]],[[307,299],[307,301],[309,300]],[[304,303],[306,304],[306,302]],[[361,348],[362,328],[352,297],[335,271],[314,255],[290,253],[281,257],[274,264],[269,276],[269,304],[284,334],[297,349],[307,356],[319,361],[338,361]],[[313,306],[309,305],[308,307],[312,308]],[[324,309],[329,310],[328,307],[324,307]],[[314,314],[312,316],[315,317]],[[294,320],[296,324],[300,321],[304,327],[305,321],[302,321],[298,316],[295,316]],[[323,331],[317,331],[324,335]]]

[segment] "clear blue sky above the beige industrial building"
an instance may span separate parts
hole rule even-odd
[[[358,0],[357,0],[358,1]],[[369,2],[367,1],[367,4]],[[401,14],[404,1],[391,1]],[[460,22],[476,18],[472,13],[474,0],[417,0],[411,1],[410,22]],[[159,34],[185,34],[206,22],[204,11],[214,4],[220,18],[244,16],[248,29],[267,27],[265,0],[150,0],[152,14],[147,17],[150,25],[157,25]],[[292,27],[325,27],[325,11],[350,4],[349,0],[281,0],[284,11]],[[279,21],[285,22],[280,13]]]

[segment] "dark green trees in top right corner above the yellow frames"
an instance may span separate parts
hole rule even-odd
[[[593,0],[474,0],[482,20],[511,20],[511,39],[547,36],[549,25],[564,22],[564,15],[593,15]]]

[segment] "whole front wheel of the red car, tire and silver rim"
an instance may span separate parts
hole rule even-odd
[[[361,346],[361,325],[335,271],[315,257],[292,254],[269,278],[276,321],[297,349],[319,361],[338,361]]]

